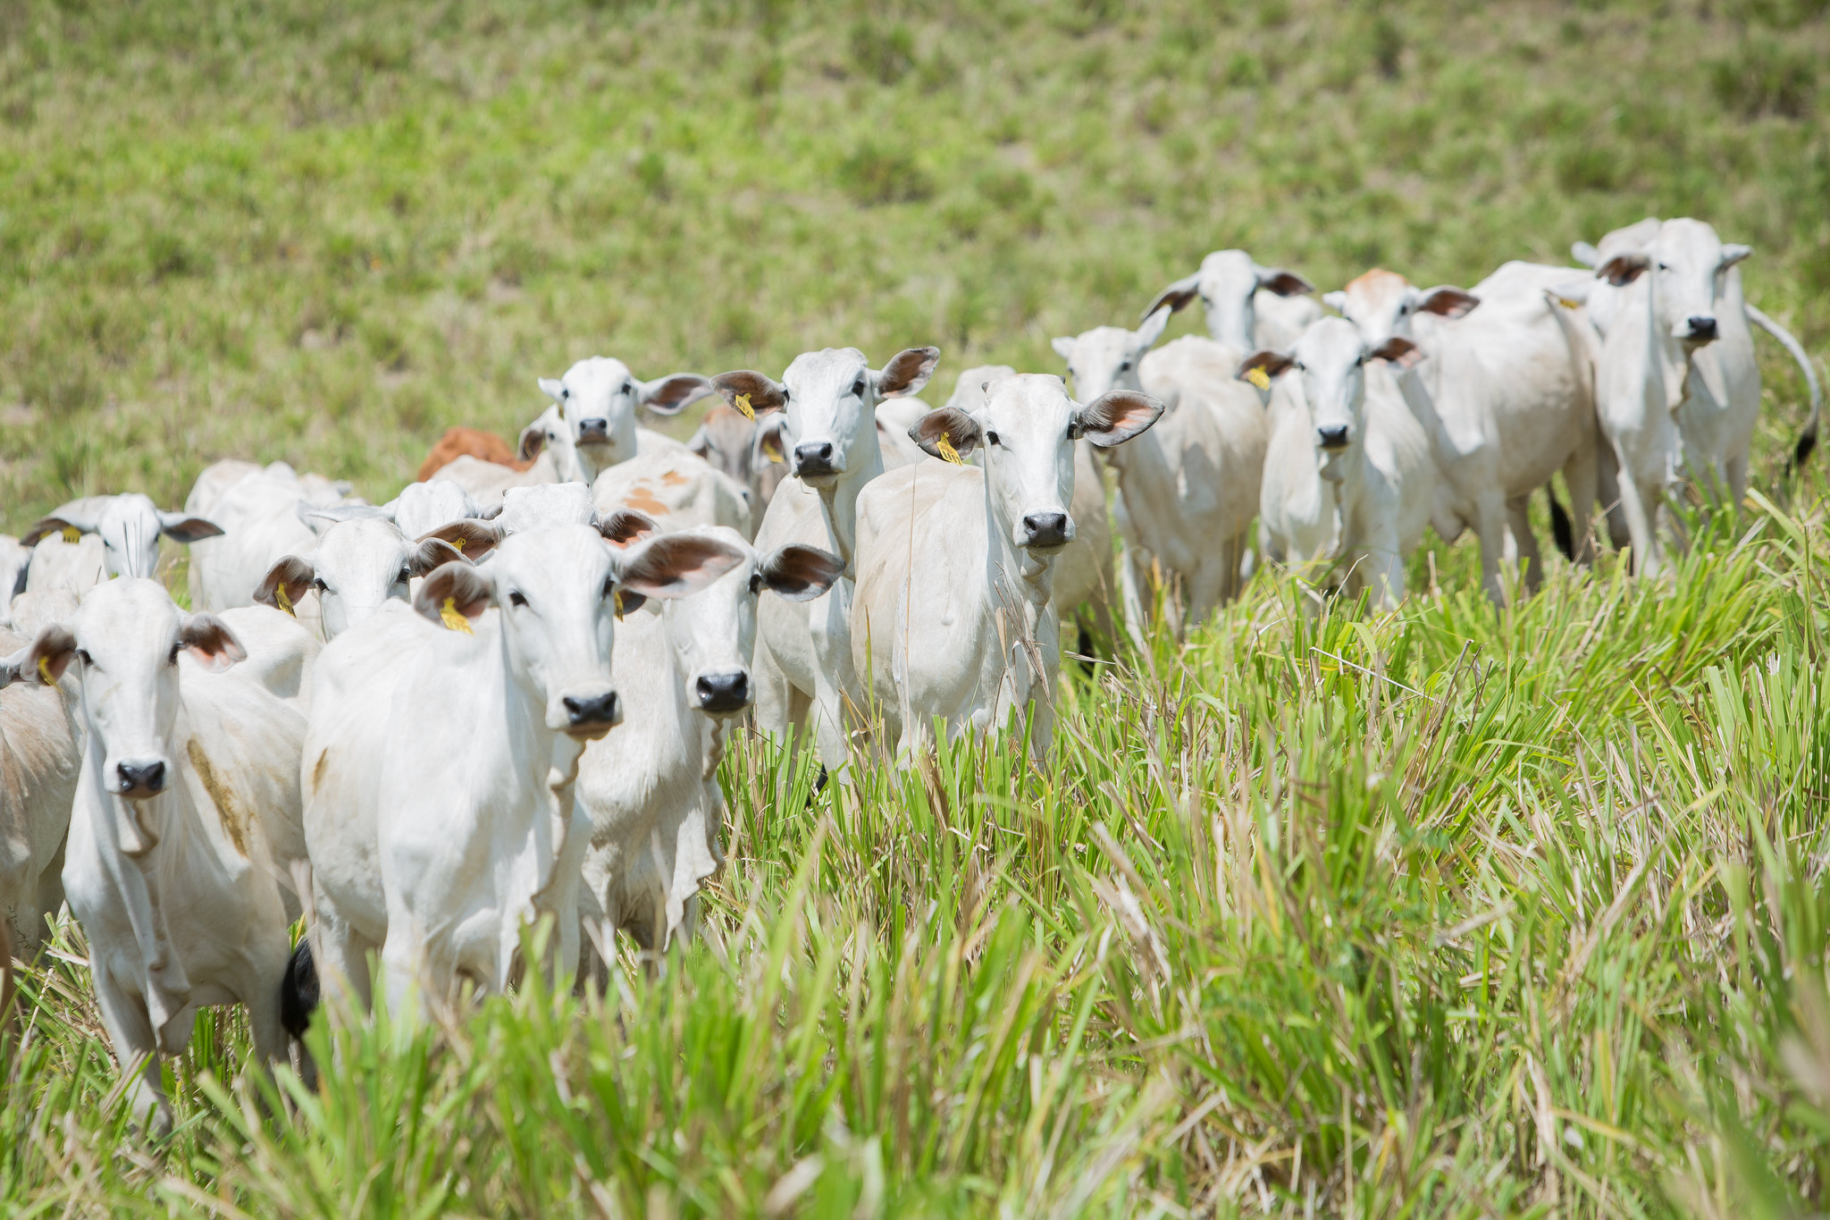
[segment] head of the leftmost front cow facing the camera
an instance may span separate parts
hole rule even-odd
[[[176,741],[179,660],[221,671],[247,653],[214,615],[187,615],[165,585],[128,576],[97,585],[70,626],[53,624],[5,660],[22,680],[53,684],[79,666],[82,710],[92,750],[102,755],[102,790],[126,801],[165,792],[176,779],[181,752]],[[139,812],[115,805],[115,832],[128,856],[159,841],[159,827]]]

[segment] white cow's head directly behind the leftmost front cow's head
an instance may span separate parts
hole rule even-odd
[[[75,545],[68,540],[71,530],[82,534]],[[161,512],[139,492],[71,499],[20,538],[24,545],[38,547],[26,587],[68,589],[81,596],[110,576],[152,576],[159,565],[161,534],[172,541],[196,541],[214,538],[221,529],[185,512]],[[40,540],[48,545],[40,547]]]

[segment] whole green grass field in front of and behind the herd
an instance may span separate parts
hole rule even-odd
[[[1228,245],[1469,284],[1693,214],[1825,353],[1826,91],[1823,0],[0,0],[5,527],[223,455],[384,498],[589,353],[933,342],[944,397]],[[1760,342],[1759,494],[1671,580],[1259,580],[1071,669],[1045,768],[745,743],[705,938],[604,999],[315,1033],[285,1099],[209,1015],[150,1149],[66,927],[0,1211],[1825,1211],[1830,514]]]

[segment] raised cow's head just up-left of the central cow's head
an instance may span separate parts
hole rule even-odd
[[[831,488],[864,468],[867,446],[877,444],[877,404],[920,393],[939,360],[939,348],[908,348],[873,369],[856,348],[825,348],[794,357],[780,382],[741,369],[714,377],[712,386],[739,412],[780,410],[789,474]]]

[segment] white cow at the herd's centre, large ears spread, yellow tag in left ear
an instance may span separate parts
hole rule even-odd
[[[1030,752],[1054,737],[1054,560],[1074,540],[1074,441],[1146,432],[1164,408],[1135,391],[1080,406],[1060,377],[994,380],[974,412],[942,408],[915,437],[959,461],[891,470],[858,496],[853,666],[906,763],[931,737],[1001,732],[1034,702]]]

